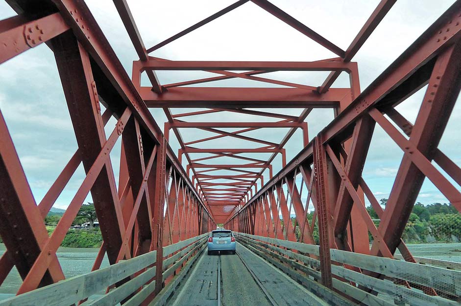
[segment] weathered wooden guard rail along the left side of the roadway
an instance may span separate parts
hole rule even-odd
[[[170,244],[163,248],[162,282],[172,276],[174,272],[187,262],[178,275],[173,277],[151,305],[162,305],[172,288],[184,277],[192,263],[206,247],[205,233],[187,240]],[[126,283],[109,290],[106,294],[87,301],[84,306],[113,306],[129,298],[123,305],[140,305],[155,289],[155,262],[157,251],[152,251],[130,260],[120,261],[106,268],[90,273],[78,275],[61,282],[0,301],[0,306],[61,306],[78,304],[79,301],[98,294],[116,283],[131,278]]]

